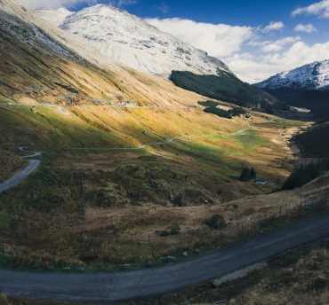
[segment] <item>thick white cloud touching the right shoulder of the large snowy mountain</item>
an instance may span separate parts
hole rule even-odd
[[[243,43],[253,35],[253,27],[213,25],[179,18],[146,19],[146,21],[185,43],[207,51],[209,55],[214,57],[226,57],[240,51]]]

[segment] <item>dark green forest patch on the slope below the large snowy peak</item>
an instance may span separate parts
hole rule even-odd
[[[186,90],[209,98],[223,100],[238,106],[261,108],[273,113],[274,108],[285,108],[277,98],[263,90],[240,81],[234,74],[219,71],[218,75],[197,75],[191,72],[173,71],[171,81]]]

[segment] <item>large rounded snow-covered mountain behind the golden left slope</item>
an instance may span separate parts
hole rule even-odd
[[[182,43],[128,12],[105,4],[80,12],[60,8],[34,13],[92,45],[110,61],[144,73],[167,76],[173,70],[197,74],[217,74],[218,69],[230,72],[221,60],[209,57],[205,51]]]

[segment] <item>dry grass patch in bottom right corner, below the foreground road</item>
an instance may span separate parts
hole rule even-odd
[[[317,250],[279,270],[263,270],[260,281],[229,304],[328,304],[329,253]]]

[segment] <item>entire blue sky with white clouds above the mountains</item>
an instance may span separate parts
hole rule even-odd
[[[209,55],[245,82],[329,59],[329,0],[18,0],[28,9],[120,7]]]

